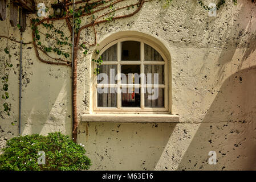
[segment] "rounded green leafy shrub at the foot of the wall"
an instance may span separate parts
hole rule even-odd
[[[14,137],[0,155],[0,170],[82,170],[91,166],[81,144],[61,133]],[[38,164],[39,151],[45,152],[45,164]]]

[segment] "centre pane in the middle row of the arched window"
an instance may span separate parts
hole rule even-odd
[[[125,78],[121,79],[121,84],[140,84],[140,65],[121,65],[121,73],[125,74],[126,77],[126,82]],[[135,73],[137,74],[135,75]],[[132,75],[129,77],[129,74]]]

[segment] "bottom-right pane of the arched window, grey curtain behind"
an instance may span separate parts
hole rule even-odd
[[[147,88],[145,107],[164,107],[164,89]]]

